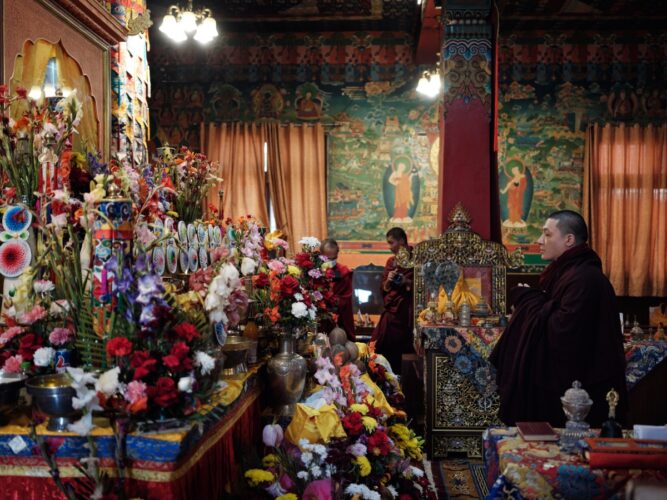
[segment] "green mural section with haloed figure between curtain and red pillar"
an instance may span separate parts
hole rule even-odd
[[[437,105],[398,94],[337,115],[328,142],[328,226],[346,248],[386,249],[400,226],[410,241],[437,233]]]

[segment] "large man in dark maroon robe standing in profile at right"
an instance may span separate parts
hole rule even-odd
[[[602,273],[598,255],[586,244],[588,230],[576,212],[547,219],[538,240],[542,258],[553,260],[540,276],[539,289],[510,291],[512,319],[493,350],[500,419],[565,423],[561,396],[581,382],[593,406],[591,426],[606,420],[605,396],[620,395],[618,419],[627,408],[625,354],[616,294]]]

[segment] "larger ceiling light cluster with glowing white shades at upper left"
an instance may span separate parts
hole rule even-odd
[[[188,39],[188,35],[193,33],[193,38],[202,45],[206,45],[218,36],[218,27],[211,9],[194,10],[192,0],[189,0],[184,8],[178,5],[169,7],[167,14],[162,18],[160,31],[176,43],[184,42]]]

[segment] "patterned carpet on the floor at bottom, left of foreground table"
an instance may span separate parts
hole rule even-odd
[[[481,461],[441,460],[432,462],[431,466],[439,499],[486,498],[489,489]]]

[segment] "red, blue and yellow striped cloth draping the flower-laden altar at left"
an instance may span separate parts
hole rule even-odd
[[[240,444],[252,446],[260,439],[261,398],[259,366],[239,380],[227,380],[227,387],[214,393],[211,402],[202,407],[194,421],[166,432],[131,433],[127,436],[127,477],[133,496],[159,499],[219,499],[237,479]],[[86,438],[72,433],[55,433],[44,424],[38,434],[48,436],[60,475],[81,477],[75,468],[79,459],[88,456]],[[10,442],[16,437],[24,442],[13,451]],[[116,474],[115,439],[109,427],[93,430],[97,456],[102,470]],[[28,420],[18,415],[0,427],[0,498],[62,499],[49,475],[44,459],[29,437]]]

